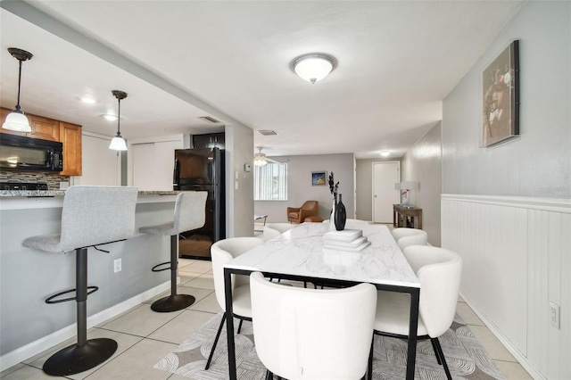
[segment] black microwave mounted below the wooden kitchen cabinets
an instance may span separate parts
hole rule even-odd
[[[62,148],[56,141],[0,133],[0,169],[62,171]]]

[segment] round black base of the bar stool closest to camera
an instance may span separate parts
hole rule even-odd
[[[73,344],[55,352],[47,359],[44,363],[44,372],[51,376],[79,374],[97,367],[111,358],[115,351],[117,351],[117,342],[108,338],[90,339],[83,347]]]

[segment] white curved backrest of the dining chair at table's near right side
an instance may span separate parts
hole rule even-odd
[[[411,245],[403,253],[420,281],[418,310],[428,335],[443,335],[456,312],[462,259],[456,252],[427,245]]]

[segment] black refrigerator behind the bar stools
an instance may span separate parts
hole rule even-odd
[[[206,222],[178,236],[178,256],[211,260],[211,245],[226,237],[224,150],[176,149],[173,190],[206,191]]]

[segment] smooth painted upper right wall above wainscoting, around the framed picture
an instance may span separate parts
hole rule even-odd
[[[443,102],[443,192],[571,196],[569,2],[530,2]],[[481,76],[519,39],[521,136],[480,148]]]

